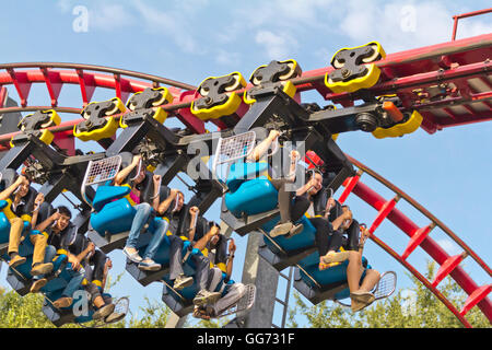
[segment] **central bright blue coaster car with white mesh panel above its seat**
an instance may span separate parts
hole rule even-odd
[[[251,151],[255,133],[249,131],[246,135],[234,136],[219,141],[218,153],[214,159],[214,172],[218,177],[225,177],[225,186],[229,191],[224,196],[223,209],[229,210],[235,219],[244,219],[246,225],[237,231],[242,234],[251,230],[261,230],[265,234],[265,244],[273,253],[274,258],[269,261],[280,270],[281,267],[295,264],[298,259],[305,257],[314,249],[315,233],[313,224],[303,215],[297,223],[304,225],[304,230],[292,236],[270,237],[270,232],[280,220],[278,213],[278,191],[270,183],[267,175],[262,175],[268,170],[267,163],[242,163],[236,162],[246,158]],[[233,145],[233,143],[238,143]],[[246,144],[246,145],[245,145]],[[245,149],[246,148],[246,149]],[[234,150],[236,149],[236,150]],[[227,151],[224,151],[227,150]],[[229,152],[227,154],[225,154]],[[273,152],[272,152],[273,153]],[[225,158],[225,160],[224,160]],[[231,164],[229,173],[223,166]],[[218,167],[219,166],[219,167]],[[225,176],[221,176],[224,175]],[[258,177],[258,175],[260,175]],[[222,219],[229,224],[225,217]]]

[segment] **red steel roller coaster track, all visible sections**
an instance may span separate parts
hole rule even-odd
[[[397,94],[403,102],[406,109],[418,109],[422,114],[424,120],[421,127],[429,133],[450,126],[491,120],[491,56],[492,34],[387,55],[385,59],[376,62],[383,72],[383,78],[370,91],[375,95]],[[298,92],[315,90],[327,101],[339,103],[343,106],[353,105],[354,101],[360,98],[358,93],[335,94],[323,84],[325,74],[331,70],[331,67],[327,67],[306,71],[302,77],[293,79],[292,82],[297,86]],[[33,83],[42,83],[46,86],[50,97],[49,105],[28,105],[28,94]],[[169,86],[174,102],[162,107],[165,110],[172,112],[172,115],[176,116],[192,132],[206,132],[204,121],[196,118],[189,112],[190,103],[196,97],[195,86],[161,77],[115,68],[75,63],[32,62],[0,65],[0,95],[5,94],[7,90],[4,85],[9,84],[14,85],[19,100],[21,101],[21,106],[7,108],[0,106],[0,114],[38,109],[56,109],[60,113],[80,114],[82,108],[58,106],[58,97],[63,84],[78,84],[80,86],[84,106],[91,102],[96,88],[114,90],[116,96],[125,102],[131,93],[142,91],[149,86],[163,84]],[[440,84],[448,89],[449,92],[444,98],[423,98],[419,94],[422,92],[425,93],[426,89]],[[250,85],[246,86],[245,90],[249,88]],[[0,98],[0,101],[3,101],[3,98]],[[73,119],[66,121],[50,129],[58,133],[58,138],[61,137],[73,142],[72,128],[80,120]],[[212,120],[212,122],[221,128],[225,127],[220,119]],[[9,141],[15,133],[0,136],[0,145],[3,149],[8,149],[10,147]],[[470,256],[491,276],[489,266],[455,233],[411,197],[359,161],[351,158],[350,160],[359,167],[359,172],[356,176],[344,183],[345,189],[340,197],[340,201],[344,201],[347,196],[353,192],[378,211],[370,228],[372,240],[429,288],[466,327],[471,326],[465,318],[465,315],[475,305],[478,305],[488,319],[492,322],[492,304],[488,299],[492,285],[485,284],[478,287],[464,269],[459,267],[459,262],[466,256]],[[359,178],[363,173],[373,176],[386,187],[390,188],[396,194],[396,197],[385,200],[361,183]],[[401,211],[395,209],[397,201],[400,199],[407,200],[417,208],[430,219],[431,223],[427,226],[419,228]],[[390,220],[410,237],[408,247],[401,255],[374,235],[375,230],[385,219]],[[464,249],[464,254],[448,256],[429,236],[434,226],[441,228],[452,237]],[[407,261],[408,256],[418,246],[422,247],[441,265],[441,269],[432,282],[426,280],[425,277]],[[446,276],[450,276],[469,295],[465,306],[460,311],[446,300],[436,288],[440,281]]]

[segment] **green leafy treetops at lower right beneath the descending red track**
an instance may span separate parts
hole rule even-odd
[[[426,278],[432,280],[435,262],[427,264]],[[458,328],[464,327],[456,316],[417,278],[409,276],[413,285],[408,291],[380,300],[362,312],[353,313],[330,301],[307,305],[294,293],[295,306],[289,312],[291,327],[298,327],[297,315],[307,318],[313,328]],[[440,291],[456,308],[460,310],[467,295],[450,279],[440,284]],[[472,327],[491,327],[487,317],[473,307],[466,318]]]

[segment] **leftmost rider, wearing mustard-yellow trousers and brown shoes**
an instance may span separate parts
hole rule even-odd
[[[37,220],[38,206],[37,208],[34,208],[35,205],[33,202],[25,200],[27,195],[33,190],[30,185],[31,182],[27,177],[20,175],[12,185],[0,192],[0,200],[10,201],[10,211],[12,212],[10,215],[11,218],[9,218],[11,228],[8,250],[10,257],[9,267],[12,268],[26,261],[25,257],[19,255],[19,245],[21,244],[21,235],[24,229],[24,221],[20,217],[34,212],[30,220],[31,224],[34,225]],[[35,203],[40,201],[42,196],[42,194],[36,196]],[[34,245],[31,275],[38,276],[50,272],[52,270],[52,264],[44,262],[47,236],[42,234],[31,234],[30,240]]]

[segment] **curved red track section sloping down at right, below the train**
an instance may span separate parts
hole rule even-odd
[[[378,211],[376,219],[371,225],[371,238],[378,244],[384,250],[390,254],[398,262],[406,267],[413,276],[415,276],[429,290],[431,290],[440,301],[442,301],[449,311],[466,326],[471,327],[466,320],[465,315],[473,307],[478,305],[485,317],[492,322],[492,303],[488,299],[488,294],[492,290],[492,284],[485,284],[482,287],[477,285],[477,283],[471,279],[471,277],[465,272],[465,270],[459,267],[459,262],[466,256],[472,257],[477,264],[489,275],[492,276],[492,270],[490,267],[473,252],[465,242],[462,242],[448,226],[435,218],[431,212],[429,212],[424,207],[418,203],[413,198],[408,196],[405,191],[393,185],[386,178],[365,166],[361,162],[348,155],[349,160],[359,167],[356,183],[353,184],[353,178],[348,178],[344,183],[345,190],[341,195],[341,199],[348,197],[350,192],[353,192],[362,200],[367,202],[370,206]],[[375,192],[373,189],[363,184],[360,177],[364,174],[368,174],[380,184],[389,188],[396,194],[396,197],[390,200],[385,200],[382,196]],[[350,186],[350,187],[349,187]],[[352,187],[352,189],[351,189]],[[395,200],[396,199],[396,200]],[[405,199],[412,207],[419,210],[423,215],[431,220],[430,225],[419,228],[410,219],[408,219],[401,211],[395,208],[396,201],[399,199]],[[374,235],[374,231],[377,229],[379,223],[388,219],[398,229],[406,233],[410,237],[409,245],[403,254],[398,254],[393,250],[387,244]],[[434,240],[432,240],[429,234],[434,226],[438,226],[446,233],[453,241],[455,241],[462,249],[464,253],[457,256],[449,256]],[[417,246],[422,247],[437,264],[441,265],[440,270],[434,278],[434,281],[426,280],[414,267],[412,267],[408,261],[407,257],[417,248]],[[437,290],[437,284],[446,276],[450,276],[458,285],[469,295],[465,302],[464,307],[458,311],[446,298]]]

